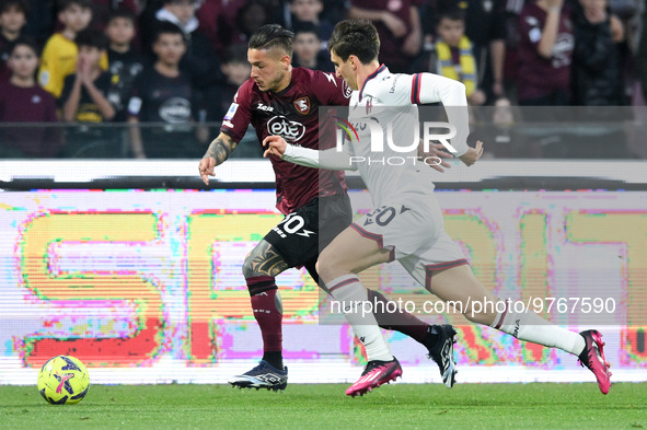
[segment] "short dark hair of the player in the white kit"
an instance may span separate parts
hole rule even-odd
[[[346,20],[337,23],[328,40],[328,50],[343,61],[351,55],[363,65],[377,60],[380,54],[378,30],[368,20]]]

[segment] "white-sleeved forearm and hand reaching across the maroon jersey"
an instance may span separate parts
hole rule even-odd
[[[276,155],[281,160],[299,164],[305,167],[325,168],[328,171],[356,171],[357,165],[350,162],[348,148],[343,147],[340,151],[331,148],[324,151],[294,147],[288,144],[280,136],[268,136],[263,139],[263,146],[267,149],[263,156]]]

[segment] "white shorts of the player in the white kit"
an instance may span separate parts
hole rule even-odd
[[[350,224],[378,246],[391,251],[416,281],[431,291],[431,272],[469,264],[463,249],[444,231],[435,196],[403,198],[365,214]]]

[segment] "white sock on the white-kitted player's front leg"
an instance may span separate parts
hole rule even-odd
[[[391,348],[384,340],[368,301],[366,288],[355,275],[345,275],[326,284],[333,299],[342,304],[344,316],[353,327],[355,336],[363,344],[369,361],[393,360]],[[363,304],[367,303],[367,304]],[[371,312],[366,312],[370,310]]]

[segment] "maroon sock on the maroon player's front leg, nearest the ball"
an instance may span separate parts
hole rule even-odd
[[[257,276],[247,278],[247,288],[252,297],[252,311],[263,336],[263,359],[277,369],[282,369],[281,319],[284,317],[279,297],[273,277]]]

